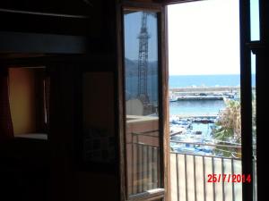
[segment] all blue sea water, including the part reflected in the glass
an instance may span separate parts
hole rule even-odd
[[[148,95],[150,100],[158,104],[158,76],[149,75]],[[252,85],[256,86],[255,75],[252,75]],[[137,95],[137,76],[126,77],[126,98],[132,98]],[[170,75],[169,88],[186,88],[186,87],[239,87],[240,75]],[[218,113],[224,108],[222,100],[208,101],[178,101],[170,104],[170,114],[204,114]]]

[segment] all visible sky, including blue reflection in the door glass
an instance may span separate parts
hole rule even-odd
[[[257,40],[258,0],[250,2],[251,38]],[[171,4],[168,13],[170,75],[239,74],[239,0]],[[142,12],[125,15],[125,54],[131,60],[138,59],[141,18]],[[148,31],[149,61],[156,61],[157,21],[152,15]]]

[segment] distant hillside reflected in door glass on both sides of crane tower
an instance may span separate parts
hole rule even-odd
[[[126,59],[126,76],[133,77],[138,76],[138,61]],[[157,75],[158,74],[158,62],[149,62],[148,63],[148,75]]]

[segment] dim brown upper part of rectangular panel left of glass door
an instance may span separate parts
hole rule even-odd
[[[112,72],[83,75],[83,125],[108,130],[114,136],[114,89]]]

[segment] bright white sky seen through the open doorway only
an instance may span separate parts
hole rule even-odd
[[[168,7],[169,75],[239,74],[239,1]]]

